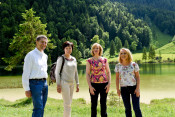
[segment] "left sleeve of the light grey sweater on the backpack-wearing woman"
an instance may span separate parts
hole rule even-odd
[[[55,77],[56,77],[57,85],[61,84],[60,70],[61,70],[62,61],[63,61],[62,57],[59,57],[57,60],[57,65],[56,65],[56,69],[55,69]]]

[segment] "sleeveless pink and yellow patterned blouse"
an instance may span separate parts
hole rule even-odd
[[[93,58],[89,58],[87,60],[90,63],[90,71],[91,71],[91,77],[90,81],[91,83],[106,83],[107,76],[105,73],[105,66],[107,59],[106,58],[100,58],[99,60],[94,60]]]

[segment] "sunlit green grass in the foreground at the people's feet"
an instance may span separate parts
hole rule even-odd
[[[108,116],[125,117],[123,103],[116,95],[108,95]],[[97,115],[100,117],[100,104]],[[1,117],[31,117],[32,100],[20,99],[16,102],[0,100]],[[63,115],[63,101],[48,98],[44,117],[61,117]],[[175,115],[175,99],[152,100],[150,104],[141,103],[143,117],[173,117]],[[72,103],[72,117],[90,117],[90,104],[82,98],[74,99]],[[134,116],[134,112],[133,112]]]

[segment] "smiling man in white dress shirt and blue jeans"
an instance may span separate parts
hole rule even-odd
[[[32,97],[32,117],[43,117],[47,101],[47,59],[44,53],[48,39],[45,35],[36,38],[36,48],[30,51],[25,59],[22,74],[22,84],[26,97]]]

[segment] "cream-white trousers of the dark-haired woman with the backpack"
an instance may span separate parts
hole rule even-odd
[[[71,104],[74,91],[74,84],[61,81],[61,89],[64,103],[63,117],[71,117]]]

